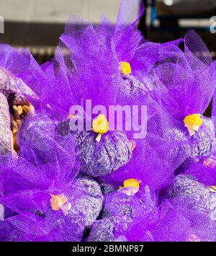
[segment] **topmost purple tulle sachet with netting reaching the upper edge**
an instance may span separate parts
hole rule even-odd
[[[138,17],[135,17],[138,6],[140,6],[140,12]],[[86,68],[89,67],[89,61],[86,61],[88,57],[90,61],[97,57],[96,61],[101,61],[104,69],[109,66],[109,68],[113,68],[114,72],[116,72],[117,66],[118,69],[122,69],[121,63],[126,63],[129,66],[128,73],[122,70],[122,74],[120,74],[119,92],[116,93],[116,90],[108,85],[106,87],[106,92],[110,94],[109,97],[113,97],[113,100],[116,100],[117,97],[117,102],[121,105],[124,104],[125,98],[126,102],[128,100],[139,102],[139,97],[153,89],[153,74],[151,74],[153,66],[161,61],[161,53],[163,59],[171,56],[171,52],[168,52],[168,45],[179,45],[182,41],[180,39],[165,44],[145,41],[136,27],[143,14],[143,9],[143,1],[122,0],[116,24],[112,24],[103,17],[96,27],[71,15],[66,24],[65,33],[60,36],[61,42],[71,51],[72,58],[78,59],[74,69],[81,66],[85,74],[86,63]],[[88,50],[89,54],[86,54]],[[105,59],[107,59],[106,62]],[[113,67],[111,67],[111,62]],[[81,74],[80,69],[78,69],[78,73]],[[87,78],[85,77],[85,79]],[[96,88],[96,94],[99,94],[99,91],[99,88]],[[102,99],[100,94],[99,97]]]

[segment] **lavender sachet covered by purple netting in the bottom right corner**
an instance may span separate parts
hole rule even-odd
[[[158,221],[149,229],[154,241],[215,241],[215,192],[192,175],[177,175],[161,190]]]

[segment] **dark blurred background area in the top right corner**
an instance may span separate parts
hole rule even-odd
[[[140,31],[146,39],[164,43],[169,40],[175,40],[184,37],[186,32],[194,29],[207,44],[207,47],[216,52],[216,33],[210,32],[210,25],[204,21],[210,21],[210,18],[216,16],[216,0],[143,0],[145,4],[145,13],[140,19]],[[168,6],[164,3],[171,3]],[[146,14],[150,11],[150,17]],[[148,20],[147,20],[148,19]],[[193,25],[186,27],[179,25],[179,20],[194,20]],[[155,21],[159,22],[158,26],[154,26]],[[148,22],[148,25],[146,23]],[[210,24],[210,22],[209,22]],[[214,53],[213,57],[215,56]]]

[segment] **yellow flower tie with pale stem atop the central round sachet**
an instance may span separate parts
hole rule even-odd
[[[97,142],[101,140],[103,133],[107,133],[107,131],[109,131],[109,122],[105,115],[100,114],[94,118],[92,121],[92,131],[99,133],[98,136],[96,136]]]

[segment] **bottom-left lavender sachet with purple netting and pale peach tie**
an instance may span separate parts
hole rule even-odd
[[[14,181],[12,177],[10,180]],[[23,185],[24,180],[20,181]],[[84,229],[94,222],[102,209],[100,187],[89,177],[78,177],[62,187],[51,185],[41,189],[30,184],[29,189],[24,190],[22,185],[19,183],[21,190],[6,190],[0,199],[14,211],[12,217],[0,223],[1,241],[80,241]],[[57,211],[51,208],[50,200],[60,196],[66,203]]]

